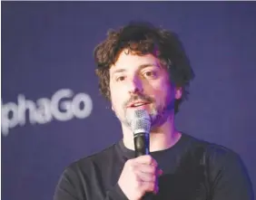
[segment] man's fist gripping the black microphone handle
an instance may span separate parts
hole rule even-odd
[[[146,192],[158,192],[158,176],[162,170],[158,169],[156,161],[149,155],[136,157],[126,161],[118,180],[118,185],[124,195],[130,200],[138,200]]]

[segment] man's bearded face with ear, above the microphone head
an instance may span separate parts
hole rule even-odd
[[[173,113],[174,99],[181,98],[182,91],[172,86],[166,69],[152,54],[127,52],[121,52],[110,68],[113,111],[124,125],[129,125],[127,116],[133,110],[147,110],[152,126],[160,126]]]

